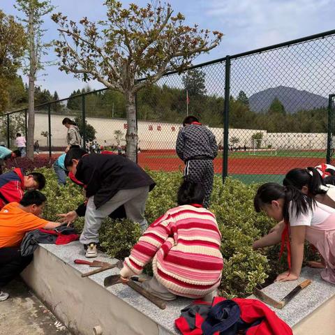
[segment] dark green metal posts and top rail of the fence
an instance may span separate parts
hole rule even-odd
[[[203,68],[204,66],[209,66],[212,64],[218,64],[218,63],[223,63],[225,62],[225,80],[223,82],[224,85],[224,98],[225,98],[225,103],[224,103],[224,110],[222,113],[223,116],[223,170],[222,170],[222,178],[223,181],[225,181],[225,178],[228,176],[228,135],[229,135],[229,116],[230,116],[230,103],[229,103],[229,99],[230,99],[230,77],[231,77],[231,61],[233,59],[239,59],[241,57],[246,57],[246,56],[250,56],[253,54],[261,54],[263,52],[267,52],[270,50],[278,50],[280,48],[284,48],[284,47],[290,47],[291,45],[297,45],[300,43],[307,43],[311,40],[316,40],[316,39],[320,39],[320,38],[325,38],[327,36],[331,36],[335,34],[335,29],[334,30],[330,30],[330,31],[325,31],[322,32],[320,34],[315,34],[315,35],[311,35],[311,36],[306,36],[304,38],[297,38],[295,40],[290,40],[288,42],[285,43],[279,43],[279,44],[275,44],[275,45],[270,45],[267,47],[262,47],[256,50],[251,50],[248,52],[241,52],[239,54],[233,54],[232,56],[227,55],[226,57],[220,58],[220,59],[215,59],[214,61],[208,61],[202,64],[198,64],[195,66],[191,66],[190,68],[188,68],[187,70],[193,70],[196,68]],[[164,75],[164,77],[168,77],[169,75],[174,75],[176,74],[177,71],[171,71],[169,73],[166,73]],[[143,81],[145,80],[145,78],[140,79],[139,81]],[[101,91],[106,91],[107,89],[99,89],[96,91],[91,91],[91,92],[87,92],[84,94],[78,94],[76,96],[71,96],[68,98],[82,98],[82,120],[83,120],[83,125],[84,125],[84,131],[83,131],[83,140],[84,143],[86,143],[87,140],[87,136],[86,136],[86,110],[85,110],[85,97],[89,94],[95,94]],[[37,107],[43,107],[43,106],[47,106],[47,112],[48,112],[48,130],[49,130],[49,155],[50,157],[52,156],[52,139],[51,139],[51,106],[53,103],[60,103],[62,101],[66,101],[68,100],[68,98],[64,98],[64,99],[59,99],[58,101],[51,101],[49,103],[43,103],[41,105],[37,105]],[[331,163],[332,161],[332,125],[333,125],[333,109],[334,109],[334,98],[335,98],[335,94],[329,94],[329,105],[328,105],[328,133],[327,133],[327,156],[326,156],[326,160],[327,163]],[[136,99],[136,111],[137,111],[137,99]],[[16,110],[13,112],[8,112],[6,113],[6,117],[7,117],[7,142],[8,142],[8,146],[10,144],[10,135],[9,135],[9,123],[10,123],[10,114],[14,114],[17,112],[24,112],[25,113],[25,133],[27,135],[27,108],[24,108],[22,110]],[[5,116],[4,115],[4,116]],[[3,116],[3,117],[4,117]],[[136,122],[137,122],[137,116],[136,116]]]

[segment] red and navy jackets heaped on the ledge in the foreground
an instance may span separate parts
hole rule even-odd
[[[215,297],[212,304],[195,300],[175,320],[184,335],[292,335],[274,311],[256,299]]]

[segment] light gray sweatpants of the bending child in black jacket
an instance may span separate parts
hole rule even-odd
[[[84,230],[82,230],[80,235],[80,242],[82,244],[98,243],[98,230],[103,219],[120,207],[121,204],[124,205],[127,218],[139,223],[142,231],[146,230],[147,220],[144,218],[144,209],[148,194],[149,186],[120,190],[98,209],[96,209],[94,204],[94,196],[90,197],[86,205]]]

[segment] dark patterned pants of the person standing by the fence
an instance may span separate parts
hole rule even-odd
[[[184,169],[184,179],[202,184],[204,207],[208,208],[214,181],[214,167],[211,159],[188,161]]]

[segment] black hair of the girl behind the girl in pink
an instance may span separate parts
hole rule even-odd
[[[284,186],[295,186],[299,191],[304,186],[308,187],[308,195],[315,196],[317,194],[325,194],[326,191],[321,189],[324,181],[320,173],[315,168],[308,167],[306,169],[296,168],[290,170],[283,180]]]

